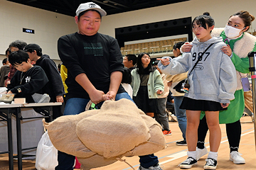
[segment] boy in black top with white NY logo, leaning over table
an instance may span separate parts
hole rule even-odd
[[[48,82],[46,73],[40,66],[33,66],[23,50],[11,52],[9,62],[18,71],[7,85],[7,94],[16,94],[15,98],[26,98],[26,103],[35,103],[32,95],[43,94],[43,88]]]

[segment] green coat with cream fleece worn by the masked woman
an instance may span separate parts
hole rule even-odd
[[[221,29],[222,28],[217,28],[217,31],[215,31],[215,35],[216,34],[220,35],[224,41],[227,37],[225,36],[224,31],[221,31],[220,33],[218,33],[218,31],[220,31]],[[228,40],[225,41],[226,44],[230,45],[230,48],[233,51],[233,57],[231,58],[231,60],[235,65],[235,69],[238,72],[240,73],[250,72],[249,58],[247,57],[247,54],[249,52],[256,51],[255,42],[256,42],[255,36],[249,35],[248,33],[243,33],[243,35],[240,38],[235,40],[230,40],[230,42],[228,42]],[[247,43],[250,43],[250,44],[247,44]],[[240,76],[237,76],[237,79],[238,81],[240,81]],[[245,109],[245,99],[244,99],[243,93],[244,91],[242,89],[237,89],[237,91],[235,91],[235,99],[233,101],[230,101],[228,110],[220,111],[220,116],[219,116],[220,124],[234,123],[240,120],[240,118],[242,117],[242,113]],[[201,114],[201,118],[203,118],[203,116],[204,116],[204,113]]]

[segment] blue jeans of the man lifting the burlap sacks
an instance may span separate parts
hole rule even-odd
[[[132,101],[132,98],[126,92],[117,94],[115,100],[118,101],[121,98],[127,98]],[[90,99],[69,98],[65,104],[64,115],[76,115],[84,112],[88,101]],[[58,166],[55,167],[55,170],[73,170],[74,162],[75,156],[58,151]],[[158,157],[154,156],[154,154],[142,156],[139,162],[144,168],[148,168],[158,163]]]

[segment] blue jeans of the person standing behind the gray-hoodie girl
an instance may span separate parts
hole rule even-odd
[[[183,96],[174,96],[174,110],[178,119],[178,127],[181,129],[183,139],[186,140],[186,110],[179,108],[182,100]]]

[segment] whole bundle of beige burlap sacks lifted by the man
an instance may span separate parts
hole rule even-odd
[[[53,145],[62,152],[79,157],[82,169],[106,166],[123,156],[153,154],[164,149],[165,139],[161,125],[145,115],[132,101],[106,101],[102,108],[78,115],[65,115],[51,123],[44,122]],[[84,129],[85,124],[92,128],[90,132]],[[132,128],[132,125],[137,128]],[[97,129],[97,135],[94,128]],[[80,139],[76,134],[79,134]],[[125,137],[128,137],[127,140],[124,140]],[[95,142],[89,144],[96,148],[94,152],[80,140]],[[99,144],[107,147],[97,149]]]

